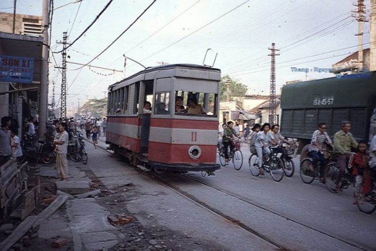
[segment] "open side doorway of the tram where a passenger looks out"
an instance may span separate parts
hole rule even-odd
[[[151,107],[153,108],[153,80],[145,81],[143,85],[143,98],[140,100],[143,100],[143,103],[140,102],[139,106],[144,107],[145,102],[150,102]],[[141,95],[142,95],[141,94]],[[141,154],[147,154],[148,152],[148,145],[149,145],[149,134],[150,134],[150,115],[151,110],[148,111],[148,108],[142,108],[142,115],[141,115],[141,130],[140,132],[140,138],[141,138],[141,145],[140,145],[140,151]]]

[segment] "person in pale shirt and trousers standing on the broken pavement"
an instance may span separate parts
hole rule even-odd
[[[55,136],[54,143],[56,145],[56,170],[58,171],[58,181],[68,181],[68,141],[69,136],[66,132],[68,125],[66,122],[62,122],[59,126],[60,132]]]

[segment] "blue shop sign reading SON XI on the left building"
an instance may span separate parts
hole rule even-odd
[[[33,83],[34,58],[0,55],[0,82]]]

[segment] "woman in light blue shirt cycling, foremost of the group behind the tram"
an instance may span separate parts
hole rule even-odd
[[[269,132],[269,130],[270,124],[264,123],[261,131],[257,134],[257,140],[255,142],[260,175],[264,175],[262,170],[263,155],[265,156],[265,159],[268,159],[269,155],[271,154],[268,144],[270,143],[274,146],[277,145],[277,141],[274,139],[273,134]]]

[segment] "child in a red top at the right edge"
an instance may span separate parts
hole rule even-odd
[[[367,143],[365,141],[360,141],[358,144],[357,153],[354,155],[352,160],[352,175],[355,176],[355,190],[354,190],[354,202],[352,204],[358,204],[358,196],[362,187],[363,178],[364,178],[364,187],[361,191],[361,202],[364,203],[364,197],[366,192],[365,183],[366,180],[370,178],[369,166],[368,166],[368,154],[367,154]],[[369,177],[368,177],[369,176]],[[370,184],[370,183],[369,183]]]

